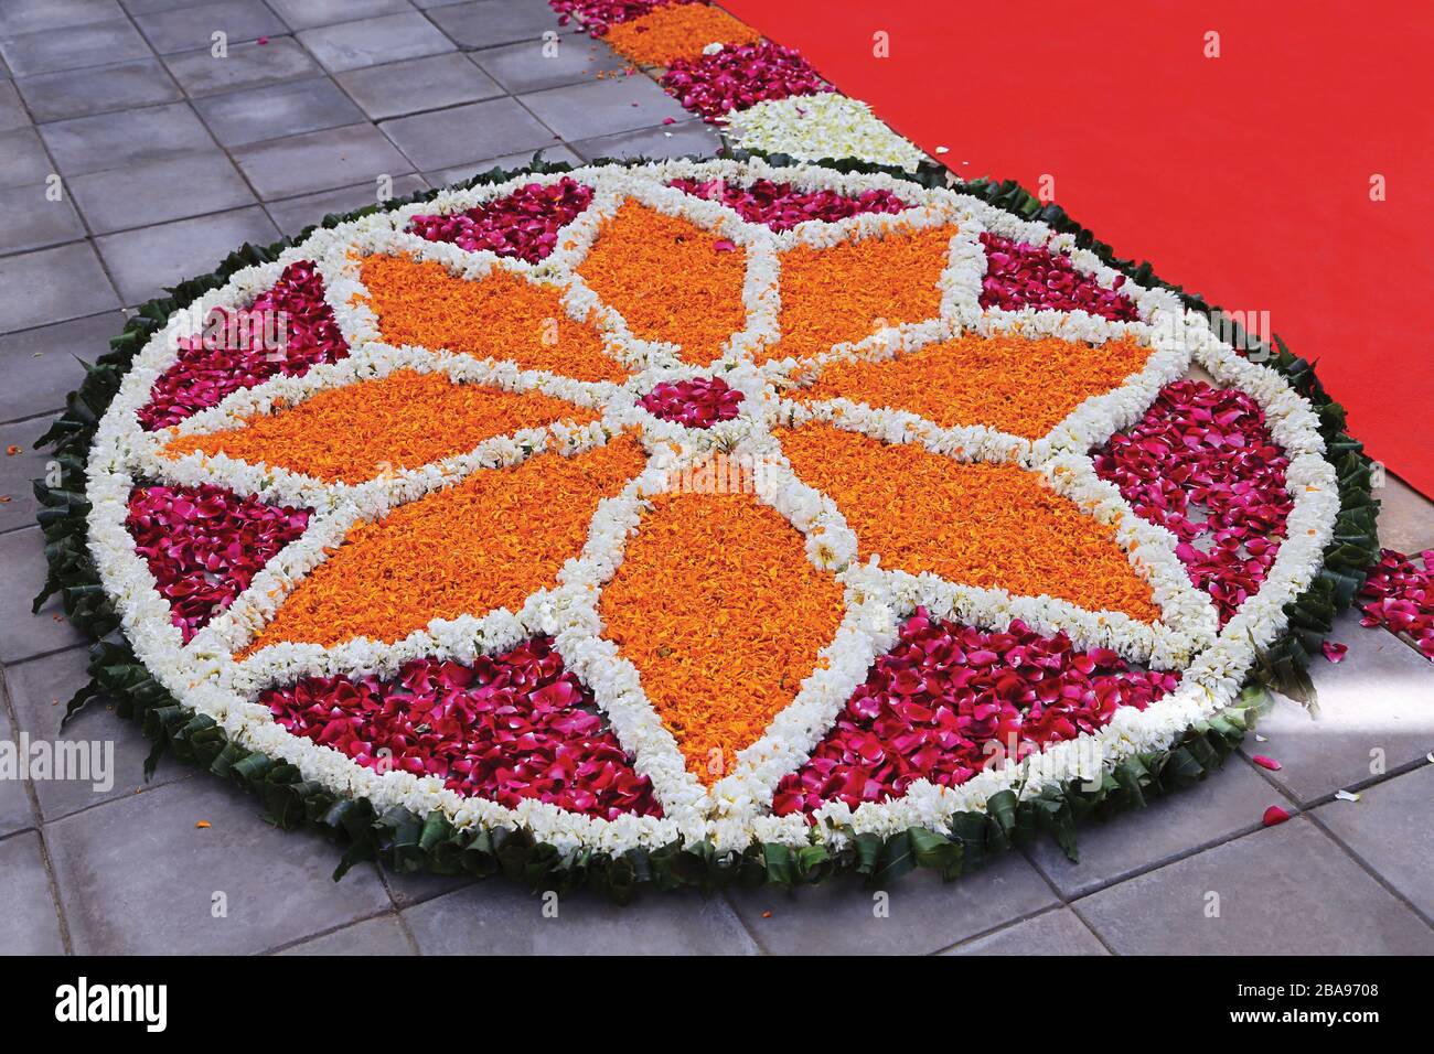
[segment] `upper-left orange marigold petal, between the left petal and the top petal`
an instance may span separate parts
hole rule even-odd
[[[500,267],[467,281],[442,264],[410,257],[367,257],[361,272],[389,344],[506,359],[525,370],[576,380],[627,379],[622,364],[604,353],[598,333],[568,317],[554,287],[535,285]]]

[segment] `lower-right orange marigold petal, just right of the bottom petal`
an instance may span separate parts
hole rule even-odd
[[[826,424],[779,429],[796,473],[826,492],[883,568],[1048,595],[1154,622],[1150,585],[1114,531],[1014,465],[967,465]]]

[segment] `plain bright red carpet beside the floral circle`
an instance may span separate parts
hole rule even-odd
[[[949,146],[959,175],[1053,175],[1119,254],[1269,311],[1369,453],[1434,496],[1427,3],[723,3],[923,149]]]

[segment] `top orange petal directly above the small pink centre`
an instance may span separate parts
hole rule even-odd
[[[681,357],[706,366],[747,324],[741,285],[747,251],[711,231],[624,202],[578,274],[641,340],[681,344]]]

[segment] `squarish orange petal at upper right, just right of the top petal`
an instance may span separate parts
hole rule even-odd
[[[885,326],[941,314],[936,281],[954,225],[912,231],[893,221],[885,235],[782,254],[782,340],[759,363],[810,359],[833,344],[865,340]]]

